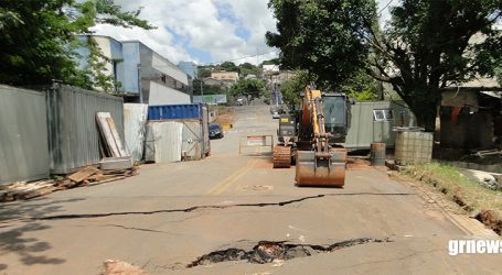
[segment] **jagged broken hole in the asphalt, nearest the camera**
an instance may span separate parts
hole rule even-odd
[[[271,263],[275,260],[288,261],[296,257],[307,257],[319,253],[330,253],[344,248],[350,248],[359,244],[366,243],[386,243],[392,242],[388,239],[371,239],[360,238],[352,239],[349,241],[337,242],[334,244],[322,246],[312,244],[289,244],[282,242],[260,241],[250,251],[243,249],[227,249],[214,251],[209,254],[202,255],[197,260],[193,261],[186,267],[195,267],[199,265],[210,265],[213,263],[222,263],[229,261],[243,261],[247,260],[248,263],[253,264],[266,264]]]

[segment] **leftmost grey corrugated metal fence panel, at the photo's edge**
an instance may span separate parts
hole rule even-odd
[[[45,95],[0,85],[0,184],[47,176]]]

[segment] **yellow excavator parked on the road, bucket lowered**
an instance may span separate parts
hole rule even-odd
[[[274,167],[296,163],[298,186],[343,187],[345,183],[348,98],[344,94],[322,92],[307,87],[297,116],[279,120],[279,144]],[[295,120],[291,123],[291,120]],[[295,124],[295,131],[291,131]]]

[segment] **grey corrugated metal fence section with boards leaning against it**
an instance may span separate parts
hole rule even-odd
[[[109,112],[124,140],[124,99],[70,86],[47,91],[51,173],[68,174],[100,161],[96,112]]]

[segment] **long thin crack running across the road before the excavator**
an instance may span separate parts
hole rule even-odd
[[[316,196],[308,196],[298,199],[285,200],[279,202],[255,202],[255,204],[234,204],[234,205],[209,205],[209,206],[193,206],[180,209],[161,209],[152,211],[125,211],[125,212],[107,212],[107,213],[70,213],[70,215],[55,215],[41,218],[31,218],[29,220],[70,220],[70,219],[92,219],[111,216],[129,216],[129,215],[156,215],[156,213],[173,213],[173,212],[193,212],[201,209],[227,209],[233,207],[271,207],[271,206],[287,206],[291,204],[301,202],[310,199],[318,199],[324,197],[339,197],[339,196],[415,196],[413,193],[343,193],[343,194],[320,194]]]

